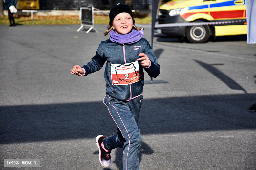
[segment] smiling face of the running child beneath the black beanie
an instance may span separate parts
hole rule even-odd
[[[128,34],[133,28],[133,19],[128,13],[119,13],[113,20],[113,29],[117,34]]]

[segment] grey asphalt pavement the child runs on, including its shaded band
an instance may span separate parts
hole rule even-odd
[[[109,168],[98,160],[96,136],[117,131],[102,102],[104,69],[70,74],[109,38],[107,25],[95,25],[98,34],[79,27],[0,25],[0,169],[122,169],[122,149],[112,151]],[[255,170],[256,44],[246,36],[191,44],[156,33],[153,51],[161,73],[143,89],[139,169]],[[40,159],[40,168],[3,167],[14,158]]]

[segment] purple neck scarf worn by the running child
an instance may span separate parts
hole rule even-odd
[[[110,40],[117,44],[133,44],[138,42],[144,35],[143,28],[140,31],[132,30],[129,34],[117,34],[113,30],[109,32]]]

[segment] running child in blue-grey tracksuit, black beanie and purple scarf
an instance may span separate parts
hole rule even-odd
[[[100,70],[104,63],[106,96],[103,103],[117,125],[117,134],[111,137],[99,135],[99,161],[104,167],[111,162],[110,153],[123,148],[123,170],[139,169],[141,135],[137,125],[144,85],[144,72],[151,77],[160,74],[160,65],[149,42],[142,38],[143,29],[137,28],[132,10],[128,5],[117,4],[109,13],[108,30],[104,35],[110,39],[102,41],[96,55],[88,64],[75,65],[71,74],[87,76]]]

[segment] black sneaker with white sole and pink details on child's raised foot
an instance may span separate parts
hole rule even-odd
[[[99,161],[104,167],[108,167],[111,162],[110,153],[111,150],[107,150],[104,148],[103,140],[105,137],[103,135],[99,135],[96,137],[96,144],[99,148]]]

